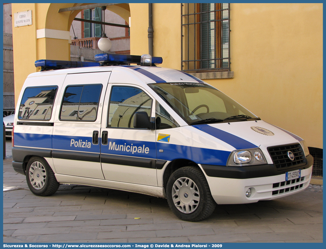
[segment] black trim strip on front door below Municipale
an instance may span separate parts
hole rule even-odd
[[[141,168],[156,168],[155,159],[101,154],[102,163],[128,165]]]

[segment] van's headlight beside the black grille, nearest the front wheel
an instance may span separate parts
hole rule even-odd
[[[227,166],[250,166],[267,164],[259,148],[232,151]]]

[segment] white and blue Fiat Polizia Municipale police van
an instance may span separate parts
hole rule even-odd
[[[38,196],[84,184],[167,198],[182,220],[303,191],[305,141],[161,57],[39,60],[22,88],[13,168]],[[53,70],[52,70],[53,69]]]

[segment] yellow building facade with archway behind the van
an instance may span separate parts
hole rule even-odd
[[[39,59],[69,60],[70,25],[87,4],[12,4],[32,10],[32,25],[14,27],[15,100]],[[148,4],[108,8],[129,23],[130,53],[148,53]],[[154,3],[154,56],[163,67],[181,70],[182,6]],[[14,20],[13,20],[14,22]],[[198,74],[266,122],[323,148],[323,5],[230,4],[230,70]],[[190,45],[189,45],[190,47]],[[183,46],[184,50],[184,46]],[[185,54],[185,51],[183,51]]]

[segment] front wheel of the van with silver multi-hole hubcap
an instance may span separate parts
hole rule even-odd
[[[168,180],[166,195],[172,212],[185,221],[203,220],[216,206],[204,174],[196,167],[174,171]]]

